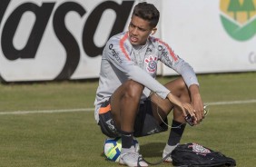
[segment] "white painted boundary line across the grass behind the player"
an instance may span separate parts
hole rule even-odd
[[[229,105],[229,104],[242,104],[242,103],[256,103],[256,99],[244,100],[244,101],[230,101],[230,102],[212,102],[212,103],[205,103],[205,104],[206,105]],[[94,112],[94,108],[0,112],[0,115],[28,114],[28,113],[74,113],[74,112]]]

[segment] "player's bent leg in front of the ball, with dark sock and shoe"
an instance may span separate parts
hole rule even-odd
[[[111,111],[113,120],[121,129],[122,150],[120,163],[128,166],[137,166],[139,153],[133,146],[133,126],[138,113],[140,99],[143,93],[143,85],[133,80],[123,83],[111,97]],[[144,161],[141,166],[148,166]]]

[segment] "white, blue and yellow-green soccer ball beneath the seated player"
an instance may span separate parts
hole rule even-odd
[[[135,147],[135,151],[140,151],[139,142],[133,138],[133,145]],[[103,144],[103,152],[106,158],[112,162],[119,162],[120,154],[122,149],[122,140],[121,137],[117,137],[114,139],[108,138],[104,141]]]

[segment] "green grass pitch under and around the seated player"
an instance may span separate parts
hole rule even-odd
[[[199,81],[210,113],[199,126],[187,126],[182,142],[200,143],[231,156],[239,167],[254,167],[256,73],[203,74]],[[0,166],[119,166],[102,155],[105,137],[92,110],[97,84],[0,84]],[[138,138],[147,161],[161,159],[168,134]]]

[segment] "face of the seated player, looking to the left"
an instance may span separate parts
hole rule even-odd
[[[153,28],[147,20],[133,15],[129,25],[129,41],[133,45],[143,45],[152,33]]]

